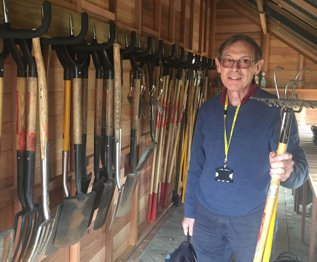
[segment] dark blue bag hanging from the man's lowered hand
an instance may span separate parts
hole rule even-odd
[[[180,243],[178,248],[165,258],[165,262],[197,262],[196,252],[190,241],[191,236],[187,234],[187,241]]]

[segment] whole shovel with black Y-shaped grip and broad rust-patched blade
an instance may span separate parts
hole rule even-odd
[[[73,60],[65,52],[67,61],[73,68],[73,105],[74,105],[74,160],[75,160],[75,185],[77,194],[64,198],[61,220],[58,225],[55,247],[69,247],[81,241],[88,228],[91,210],[96,196],[95,192],[83,193],[81,190],[81,66],[87,56],[80,60]],[[88,55],[88,53],[87,53]]]

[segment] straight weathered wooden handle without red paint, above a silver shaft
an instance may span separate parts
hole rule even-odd
[[[121,129],[121,65],[120,44],[113,43],[113,69],[114,69],[114,132],[116,143],[119,143]]]

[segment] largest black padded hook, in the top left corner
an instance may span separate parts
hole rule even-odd
[[[49,26],[51,24],[51,3],[48,1],[45,1],[42,4],[42,12],[43,12],[43,20],[40,27],[38,27],[35,30],[30,29],[8,29],[6,31],[0,31],[0,38],[3,39],[30,39],[30,38],[36,38],[40,37],[47,30],[49,29]]]

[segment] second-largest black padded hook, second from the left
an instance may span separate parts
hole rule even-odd
[[[86,36],[88,31],[88,15],[86,12],[81,13],[81,31],[77,36],[41,38],[44,45],[75,45],[80,43]]]

